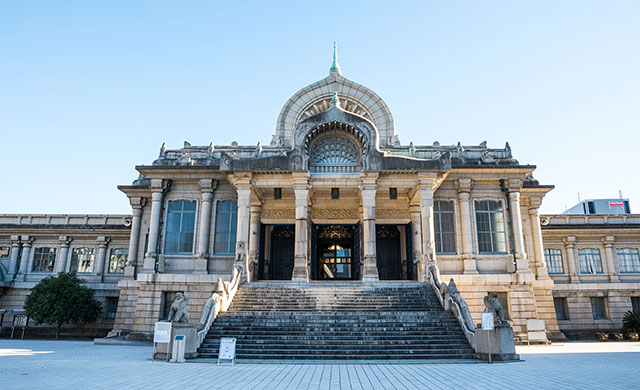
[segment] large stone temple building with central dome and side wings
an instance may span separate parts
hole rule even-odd
[[[118,187],[131,215],[0,215],[0,309],[71,270],[104,305],[86,334],[148,338],[178,291],[198,317],[234,263],[244,283],[407,285],[436,264],[476,322],[497,292],[521,341],[528,319],[552,339],[618,328],[639,304],[640,216],[541,217],[553,186],[535,168],[508,143],[402,144],[384,100],[334,56],[268,145],[163,144]]]

